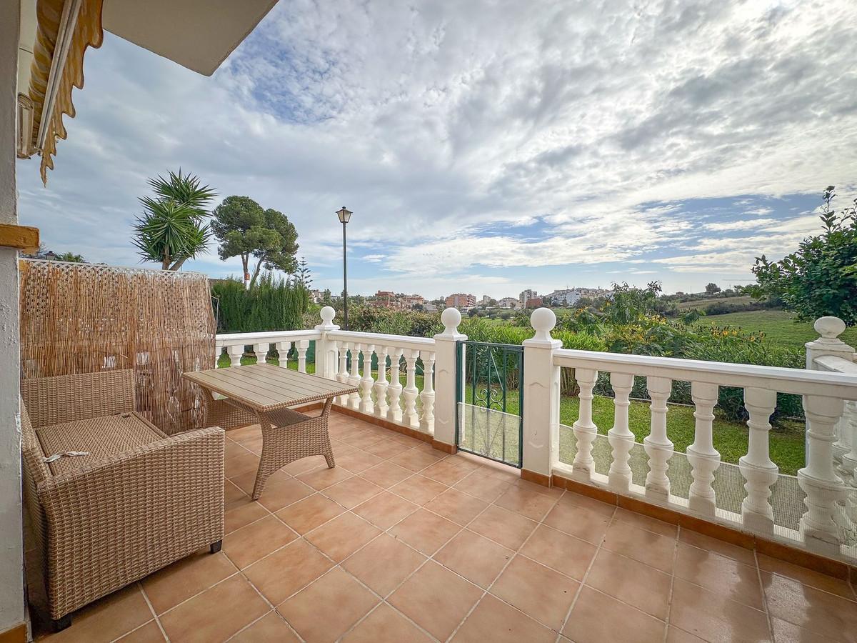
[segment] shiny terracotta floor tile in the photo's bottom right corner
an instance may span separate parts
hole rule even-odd
[[[857,603],[798,580],[762,572],[770,616],[831,639],[857,641]]]

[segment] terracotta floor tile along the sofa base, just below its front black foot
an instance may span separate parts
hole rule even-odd
[[[163,614],[237,571],[222,551],[212,554],[206,549],[147,576],[142,586],[155,614]]]

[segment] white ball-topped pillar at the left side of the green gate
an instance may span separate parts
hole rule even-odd
[[[458,369],[463,368],[463,363],[458,364],[456,352],[458,342],[466,340],[467,335],[458,333],[461,323],[458,310],[447,308],[440,315],[440,321],[444,325],[443,333],[434,335],[434,442],[442,443],[438,444],[439,448],[454,452]]]

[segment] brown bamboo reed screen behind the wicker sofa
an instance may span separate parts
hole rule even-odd
[[[21,378],[135,370],[137,410],[167,434],[203,422],[187,370],[213,368],[203,274],[21,261]]]

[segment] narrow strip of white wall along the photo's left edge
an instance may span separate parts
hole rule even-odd
[[[0,223],[4,224],[18,221],[15,85],[19,15],[18,2],[0,2]],[[0,248],[0,633],[24,621],[19,363],[18,256],[16,250]]]

